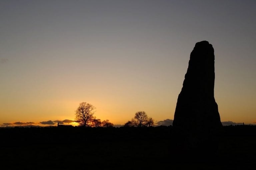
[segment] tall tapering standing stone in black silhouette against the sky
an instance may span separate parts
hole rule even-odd
[[[222,126],[214,99],[214,80],[214,49],[207,41],[197,42],[178,96],[174,129],[185,134],[205,134]]]

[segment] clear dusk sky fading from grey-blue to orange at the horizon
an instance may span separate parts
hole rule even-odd
[[[113,124],[137,111],[173,120],[190,53],[204,40],[214,48],[221,121],[255,123],[255,8],[254,0],[1,0],[0,125],[74,120],[81,102]]]

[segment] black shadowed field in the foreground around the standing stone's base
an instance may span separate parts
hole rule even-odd
[[[256,169],[256,126],[223,127],[215,146],[189,152],[165,126],[0,128],[0,136],[0,169]]]

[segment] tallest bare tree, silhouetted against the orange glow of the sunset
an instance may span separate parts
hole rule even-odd
[[[89,127],[94,119],[95,107],[89,103],[82,102],[76,109],[76,122],[79,126]]]

